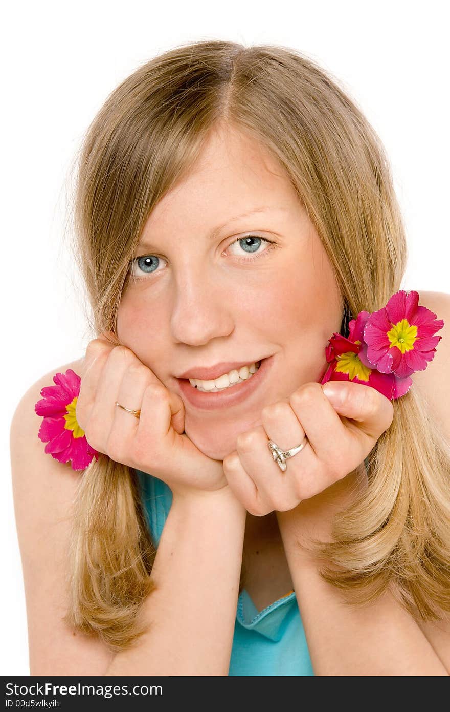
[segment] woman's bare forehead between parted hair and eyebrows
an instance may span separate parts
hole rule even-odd
[[[255,209],[267,215],[272,208],[299,207],[282,164],[255,139],[227,127],[208,137],[191,171],[154,207],[144,236],[191,223],[210,229]]]

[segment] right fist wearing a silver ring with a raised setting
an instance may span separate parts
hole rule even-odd
[[[351,381],[306,383],[289,401],[264,407],[262,425],[237,436],[237,450],[223,460],[225,477],[250,514],[291,510],[353,472],[393,415],[392,402],[370,386]],[[286,460],[283,472],[267,443],[272,440],[287,451],[305,435],[306,446]]]

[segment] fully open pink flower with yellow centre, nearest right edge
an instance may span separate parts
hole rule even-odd
[[[425,370],[434,358],[441,340],[434,333],[444,320],[436,320],[436,314],[418,302],[419,293],[401,289],[385,307],[369,315],[363,330],[365,356],[381,373],[406,378]]]

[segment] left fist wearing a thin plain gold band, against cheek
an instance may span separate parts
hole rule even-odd
[[[79,375],[76,417],[90,446],[163,480],[173,494],[228,488],[223,461],[205,455],[184,433],[181,398],[132,350],[98,337],[87,345]],[[141,409],[140,417],[116,401]]]

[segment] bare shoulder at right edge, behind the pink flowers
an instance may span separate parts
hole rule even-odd
[[[444,320],[436,335],[441,336],[434,358],[424,371],[412,375],[413,387],[424,394],[429,412],[436,425],[450,441],[450,294],[445,292],[419,292],[419,304],[424,305]]]

